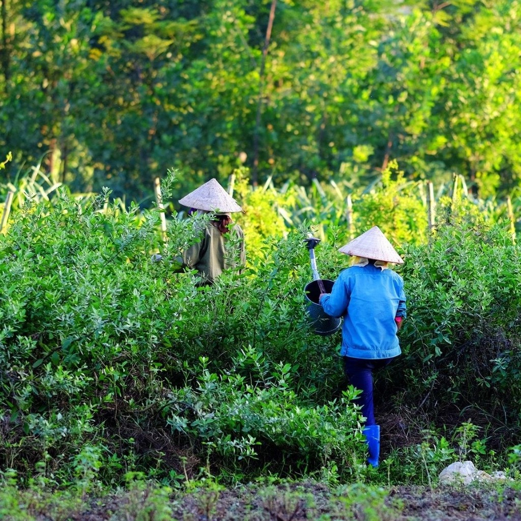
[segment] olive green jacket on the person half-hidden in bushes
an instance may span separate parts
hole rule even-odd
[[[209,222],[201,241],[184,252],[183,265],[199,271],[203,284],[213,284],[225,269],[244,266],[246,263],[241,227],[233,225],[229,235],[229,238],[225,237]]]

